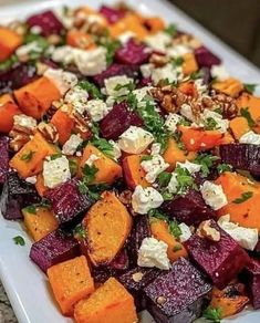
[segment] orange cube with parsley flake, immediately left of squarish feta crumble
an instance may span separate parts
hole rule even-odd
[[[58,147],[49,144],[40,133],[28,142],[10,160],[21,177],[27,178],[39,174],[46,156],[56,154]]]

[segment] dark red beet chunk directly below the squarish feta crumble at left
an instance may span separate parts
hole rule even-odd
[[[49,190],[45,197],[51,201],[60,225],[74,225],[92,205],[89,196],[80,192],[76,178]]]

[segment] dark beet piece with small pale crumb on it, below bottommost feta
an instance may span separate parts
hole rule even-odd
[[[160,272],[162,271],[156,268],[134,268],[117,277],[118,281],[134,296],[135,306],[138,312],[146,309],[144,288],[154,281]]]

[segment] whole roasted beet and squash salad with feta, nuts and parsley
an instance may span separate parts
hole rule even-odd
[[[62,314],[220,322],[260,308],[254,87],[122,3],[0,27],[0,210],[23,223]]]

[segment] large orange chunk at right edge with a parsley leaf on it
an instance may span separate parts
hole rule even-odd
[[[226,171],[219,176],[216,184],[222,186],[223,192],[227,196],[228,204],[218,210],[218,216],[230,215],[230,221],[239,223],[246,228],[257,228],[260,230],[259,218],[259,200],[260,188],[259,185],[239,174]],[[242,195],[250,192],[248,199],[241,202],[236,202],[241,199]]]

